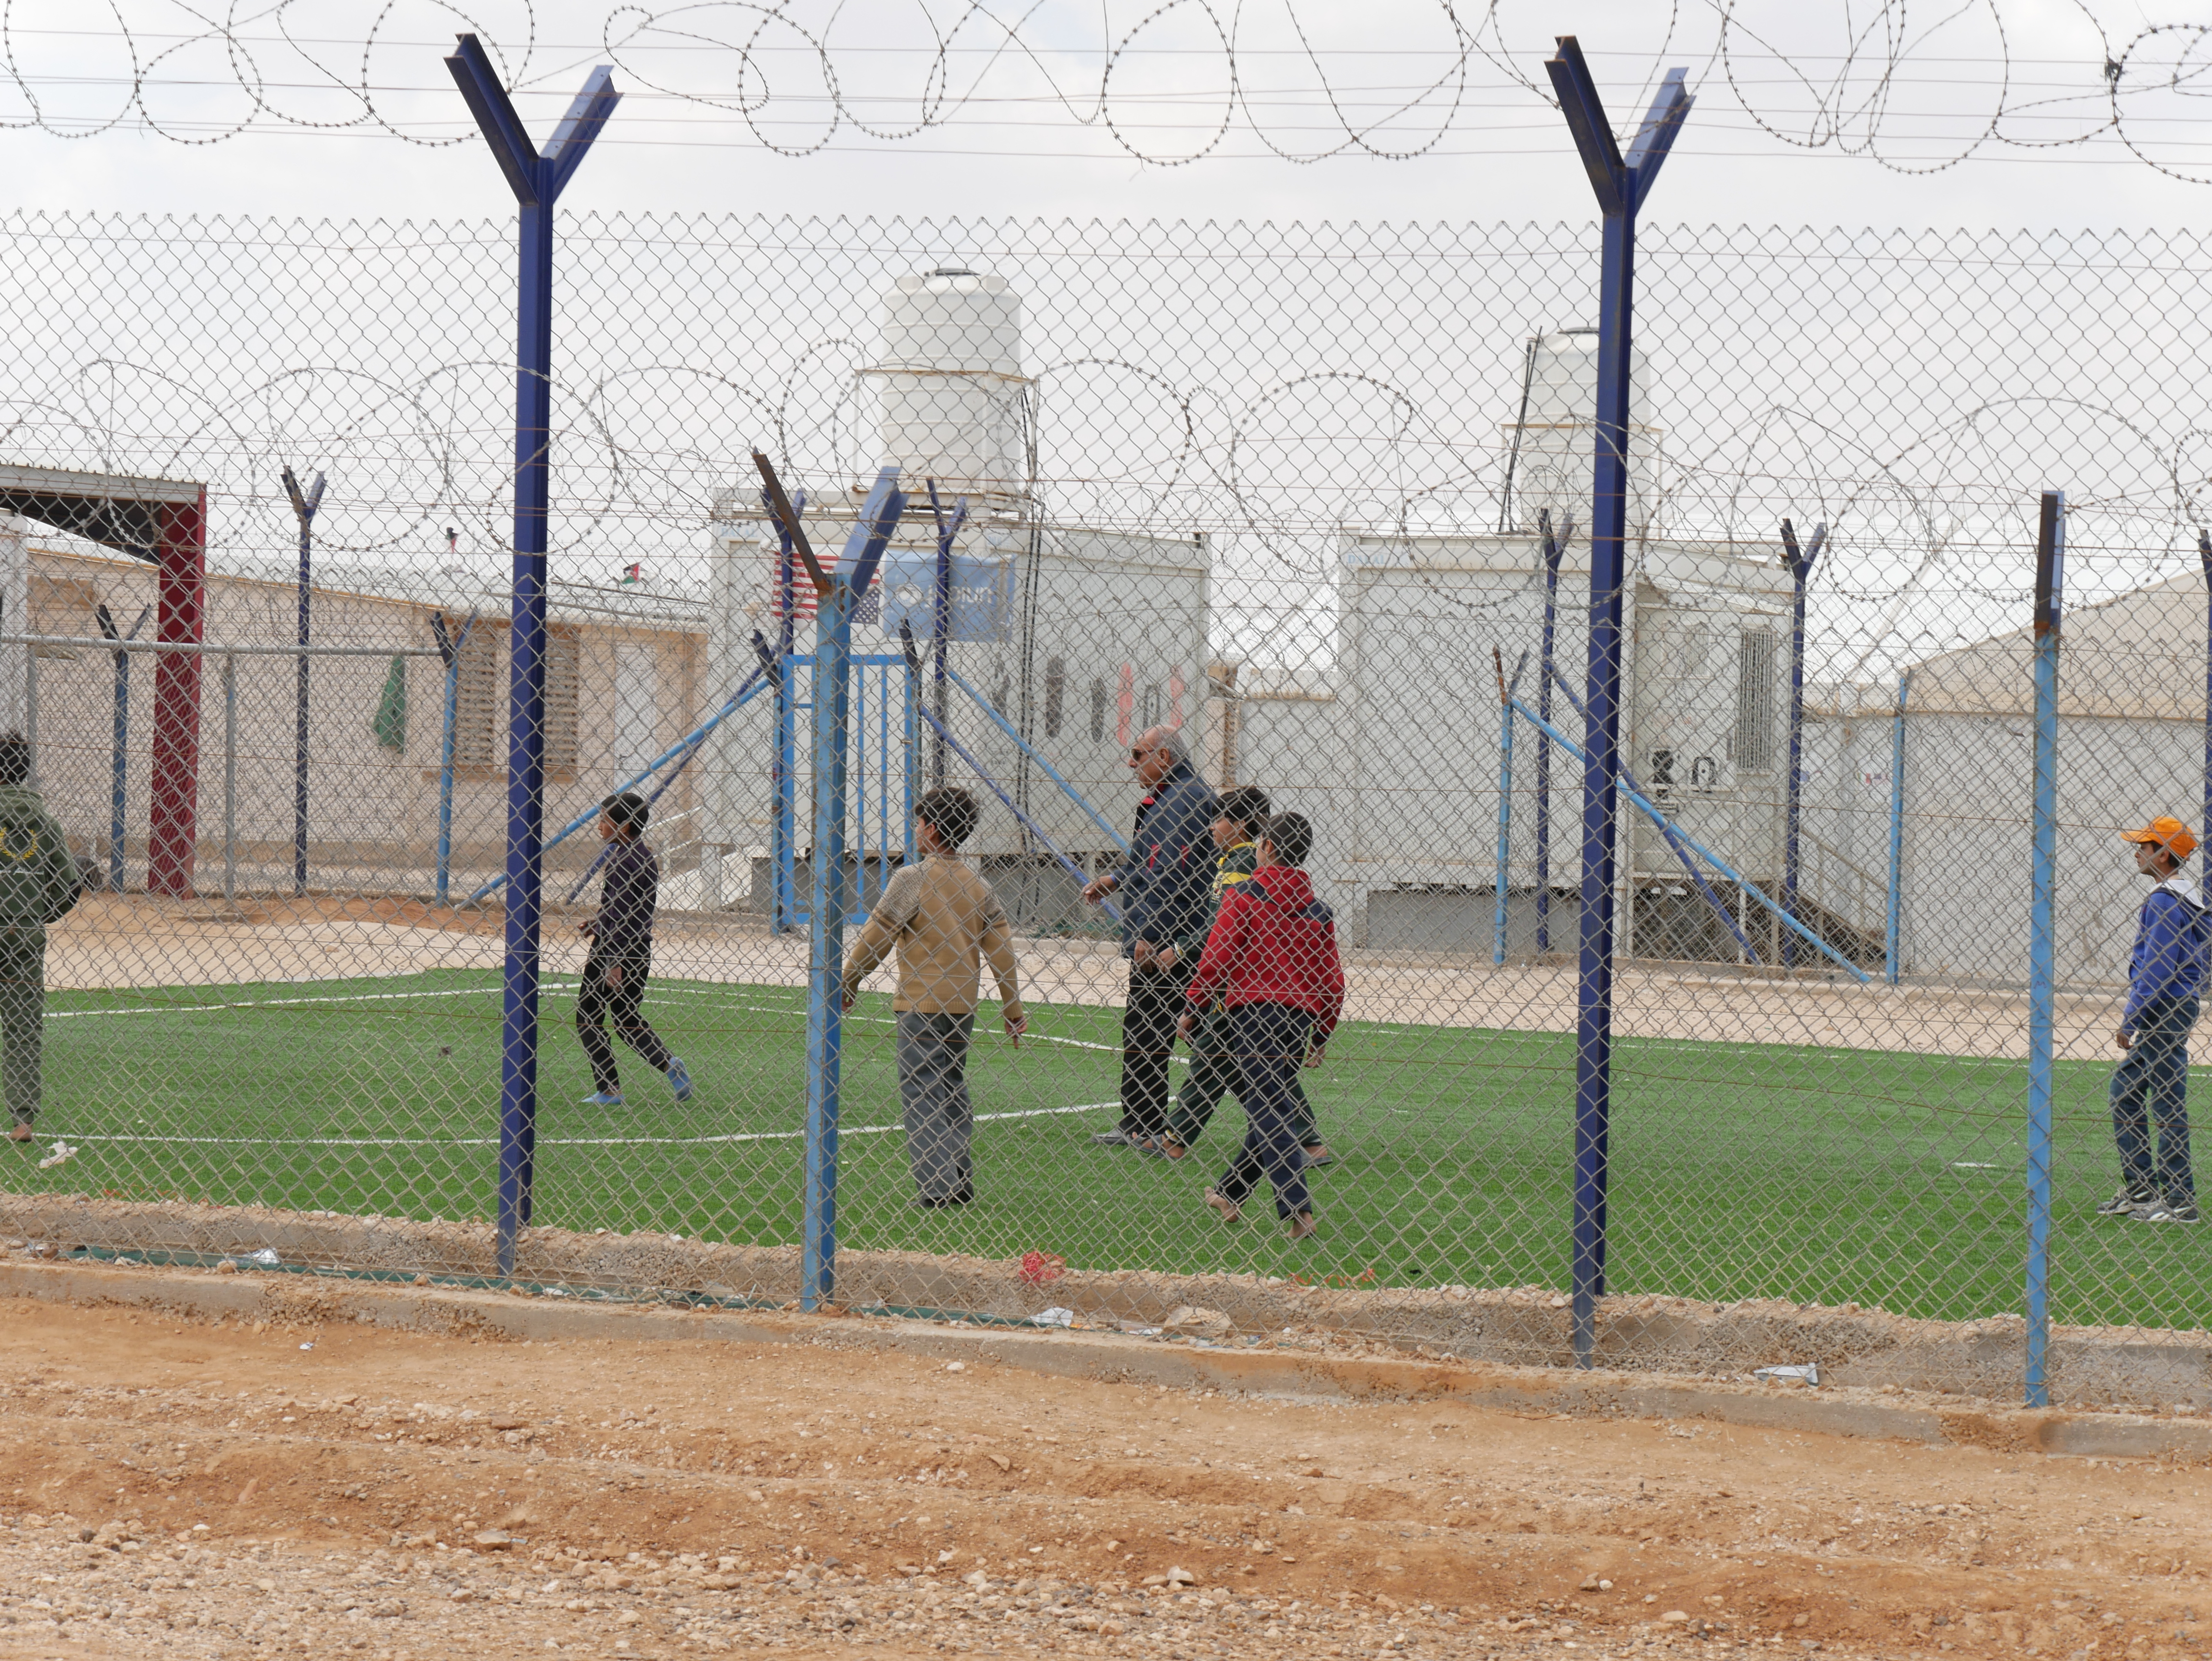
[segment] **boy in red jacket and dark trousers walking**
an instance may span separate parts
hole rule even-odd
[[[1243,1219],[1243,1201],[1265,1174],[1276,1216],[1290,1239],[1307,1239],[1314,1201],[1305,1192],[1298,1148],[1298,1066],[1318,1066],[1345,1009],[1345,964],[1336,955],[1336,918],[1314,898],[1305,856],[1314,827],[1305,814],[1276,814],[1259,838],[1259,869],[1221,896],[1206,951],[1190,978],[1183,1037],[1219,993],[1237,1055],[1237,1097],[1245,1108],[1245,1141],[1206,1203],[1223,1223]]]

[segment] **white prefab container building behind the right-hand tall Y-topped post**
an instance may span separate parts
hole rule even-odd
[[[1588,582],[1588,544],[1568,549],[1555,664],[1577,697]],[[1690,836],[1752,885],[1772,885],[1781,865],[1790,573],[1772,555],[1648,542],[1635,555],[1626,613],[1624,759]],[[1356,920],[1360,940],[1486,947],[1498,885],[1498,675],[1517,675],[1522,701],[1542,706],[1540,544],[1522,535],[1347,535],[1338,617],[1329,677],[1241,677],[1237,779],[1267,785],[1279,807],[1314,816],[1316,878],[1340,916]],[[1579,743],[1582,717],[1566,692],[1553,692],[1551,717]],[[1537,882],[1535,730],[1515,725],[1506,887],[1511,947],[1524,951]],[[1579,869],[1582,767],[1564,750],[1553,752],[1551,785],[1546,876],[1555,900],[1568,902]],[[1674,900],[1686,898],[1674,894],[1679,878],[1674,854],[1637,816],[1621,838],[1621,880],[1639,891],[1650,927],[1666,933],[1703,927],[1694,911],[1674,916],[1683,911]],[[1646,947],[1659,949],[1659,936]]]

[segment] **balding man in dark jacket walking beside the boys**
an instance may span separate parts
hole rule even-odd
[[[1177,973],[1175,942],[1203,927],[1212,909],[1212,823],[1221,803],[1190,765],[1190,750],[1170,728],[1150,728],[1130,745],[1128,767],[1146,787],[1128,858],[1084,887],[1097,905],[1121,905],[1121,951],[1128,955],[1128,1006],[1121,1013],[1121,1124],[1093,1141],[1150,1148],[1168,1128],[1168,1055],[1183,1013],[1190,964]]]

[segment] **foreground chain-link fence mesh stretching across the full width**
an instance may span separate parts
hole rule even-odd
[[[502,1278],[511,232],[0,234],[38,318],[0,365],[0,701],[91,878],[46,947],[7,1221]],[[2201,829],[2205,803],[2205,259],[1644,232],[1599,1360],[2017,1389],[2028,624],[2037,495],[2064,489],[2051,1376],[2203,1389],[2201,1228],[2097,1208],[2150,889],[2119,832]],[[575,217],[513,1278],[781,1303],[834,1230],[852,1307],[1199,1305],[1290,1343],[1564,1358],[1593,314],[1577,228]],[[847,602],[816,604],[754,449],[832,577],[876,469],[911,495],[852,604],[841,787],[816,613]],[[327,476],[305,586],[285,467]],[[1292,1126],[1305,1239],[1265,1181],[1239,1223],[1206,1203],[1237,1088],[1157,1146],[1214,1106],[1172,1037],[1203,920],[1139,975],[1128,1040],[1117,902],[1082,894],[1141,885],[1157,732],[1206,790],[1312,823],[1347,991]],[[810,995],[816,913],[858,927],[920,863],[940,781],[980,801],[967,865],[1029,1015],[998,1035],[984,964],[967,1203],[902,1117],[896,973],[841,1033],[818,973]],[[588,871],[617,787],[661,792],[641,1015],[681,1068],[641,1040],[602,1090],[577,924],[635,876]],[[1095,1139],[1124,1119],[1155,1146]],[[2181,1205],[2183,1172],[2146,1197]]]

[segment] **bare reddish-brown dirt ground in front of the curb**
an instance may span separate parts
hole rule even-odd
[[[0,1303],[0,1657],[2183,1657],[2208,1473]]]

